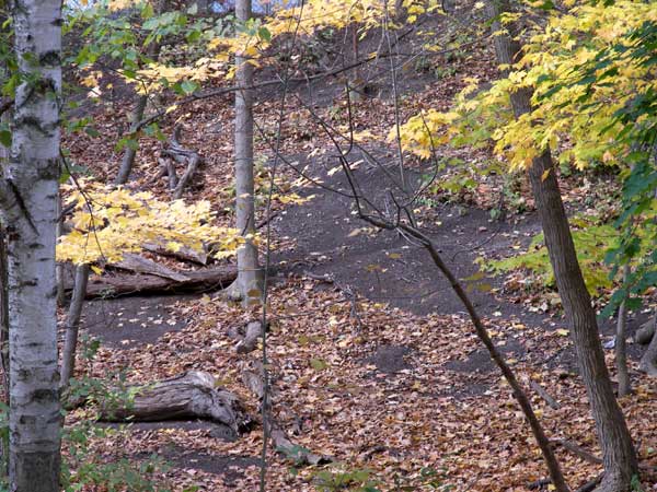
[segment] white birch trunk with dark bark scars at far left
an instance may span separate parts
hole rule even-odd
[[[59,490],[55,222],[59,177],[61,2],[15,0],[10,162],[0,179],[10,321],[10,490]]]

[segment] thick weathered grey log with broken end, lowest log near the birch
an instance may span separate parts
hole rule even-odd
[[[101,402],[101,420],[157,422],[205,419],[228,425],[237,433],[244,432],[252,423],[238,397],[218,387],[210,374],[200,371],[189,371],[151,385],[128,388],[124,393],[135,396],[125,403]]]

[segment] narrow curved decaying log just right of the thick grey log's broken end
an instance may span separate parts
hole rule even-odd
[[[246,385],[246,387],[258,397],[262,405],[265,395],[264,372],[262,364],[256,364],[256,371],[243,371],[242,380],[244,382],[244,385]],[[297,466],[321,465],[332,461],[331,457],[328,456],[315,455],[314,453],[311,453],[310,450],[292,443],[287,436],[286,432],[280,427],[280,425],[278,425],[276,419],[274,419],[272,409],[269,409],[268,413],[269,414],[265,419],[263,425],[266,426],[267,434],[272,438],[272,444],[277,452],[293,460],[295,465]]]

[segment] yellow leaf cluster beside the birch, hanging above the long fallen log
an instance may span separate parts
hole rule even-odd
[[[210,203],[164,202],[148,191],[132,192],[96,183],[67,187],[66,204],[74,204],[73,230],[59,239],[57,259],[74,265],[115,262],[145,243],[163,243],[171,251],[183,246],[200,251],[216,245],[217,257],[233,255],[243,243],[237,230],[212,225]]]

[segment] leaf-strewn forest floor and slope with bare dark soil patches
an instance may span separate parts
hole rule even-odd
[[[369,43],[376,45],[377,40]],[[404,49],[412,50],[413,40],[405,43]],[[435,72],[405,73],[410,82],[402,87],[402,116],[429,104],[449,107],[464,79],[473,73],[491,78],[493,67],[481,49],[482,56],[454,60],[457,70],[441,73],[439,80]],[[384,78],[378,83],[389,86]],[[281,152],[297,169],[303,168],[325,187],[344,191],[344,177],[332,173],[336,160],[331,142],[309,110],[310,105],[336,126],[345,125],[343,90],[337,83],[323,82],[312,89],[292,91],[280,121]],[[256,122],[263,131],[256,143],[257,154],[263,156],[258,161],[258,187],[263,188],[275,162],[270,144],[277,118],[272,115],[278,114],[280,92],[261,95]],[[394,148],[385,139],[394,120],[389,96],[381,91],[379,97],[353,108],[358,129],[373,136],[364,148],[381,164],[355,150],[353,162],[360,161],[355,174],[364,192],[380,203],[394,186],[387,176],[396,166]],[[76,162],[89,166],[101,180],[110,180],[116,171],[119,153],[113,142],[122,131],[117,121],[125,119],[125,99],[107,101],[97,110],[101,138],[69,138]],[[231,118],[230,97],[219,97],[173,112],[162,124],[170,131],[174,122],[182,121],[185,145],[205,159],[185,199],[209,199],[218,221],[226,224],[232,221],[232,142],[231,131],[227,131]],[[159,142],[143,139],[131,186],[166,196],[164,181],[152,180],[160,152]],[[485,161],[486,152],[459,155],[475,166]],[[411,164],[410,183],[430,173],[422,163]],[[291,167],[278,163],[279,192],[312,198],[297,204],[276,201],[270,221],[275,268],[267,348],[274,377],[273,412],[298,445],[332,457],[334,464],[297,469],[269,450],[267,490],[356,490],[367,483],[385,491],[548,490],[538,482],[546,477],[545,467],[509,388],[428,255],[396,233],[378,232],[359,222],[349,198],[308,183],[289,185],[298,177]],[[591,184],[591,179],[598,180]],[[604,195],[607,180],[590,176],[565,180],[569,208],[580,209],[585,194]],[[557,408],[552,408],[530,390],[549,436],[576,443],[598,456],[586,391],[577,377],[567,326],[554,293],[543,289],[519,294],[508,289],[505,278],[476,274],[477,258],[517,254],[540,232],[522,179],[518,197],[527,210],[510,210],[500,220],[491,218],[503,187],[504,177],[493,175],[481,178],[465,195],[438,194],[418,207],[417,219],[456,276],[470,284],[495,342],[525,386],[533,382],[556,400]],[[262,208],[260,212],[262,220]],[[83,361],[78,371],[93,377],[125,372],[128,380],[140,383],[188,370],[206,371],[234,391],[257,418],[257,401],[242,384],[241,373],[256,363],[260,352],[237,353],[230,336],[257,316],[212,293],[89,302],[83,327],[103,342],[96,356]],[[645,317],[645,313],[632,314],[631,333]],[[612,323],[602,328],[603,341],[608,341]],[[613,374],[612,352],[606,354]],[[631,344],[634,394],[620,402],[642,462],[655,467],[657,389],[654,380],[637,371],[638,355],[637,347]],[[178,492],[194,487],[207,492],[255,491],[262,445],[260,425],[238,436],[211,422],[132,423],[117,426],[112,437],[93,441],[89,456],[99,461],[134,461],[158,455],[169,467],[149,477]],[[557,457],[574,489],[601,470],[590,456],[585,459],[563,446],[557,447]],[[653,483],[657,483],[657,475],[645,473],[645,489],[657,490]]]

